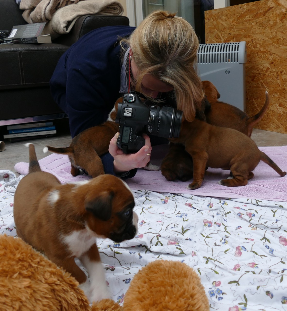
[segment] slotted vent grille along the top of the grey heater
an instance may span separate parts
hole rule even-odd
[[[246,63],[246,42],[199,44],[197,63]]]

